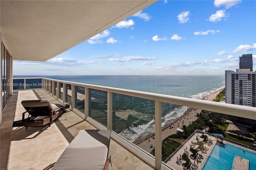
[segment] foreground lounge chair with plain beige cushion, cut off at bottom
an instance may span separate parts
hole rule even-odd
[[[107,170],[110,130],[80,130],[48,170]]]

